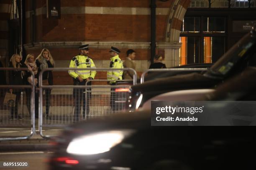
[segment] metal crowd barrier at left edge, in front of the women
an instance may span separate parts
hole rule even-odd
[[[22,140],[22,139],[28,139],[31,138],[32,135],[36,134],[36,129],[35,129],[35,112],[34,112],[34,108],[35,108],[35,75],[33,73],[33,71],[28,70],[27,68],[9,68],[9,67],[2,67],[0,68],[0,70],[4,70],[4,71],[12,71],[12,70],[21,70],[21,71],[29,71],[31,72],[32,75],[32,84],[31,85],[0,85],[0,92],[1,92],[1,103],[0,103],[0,141],[3,140]],[[3,90],[5,89],[5,90]],[[8,105],[4,105],[4,98],[6,95],[6,92],[8,92],[10,89],[13,89],[13,93],[19,93],[20,92],[20,101],[21,102],[21,106],[19,107],[19,103],[18,103],[18,112],[17,112],[17,118],[19,112],[22,112],[22,117],[24,118],[23,120],[16,120],[15,118],[15,113],[14,113],[14,117],[13,119],[10,119],[11,115],[10,115],[10,110],[9,109],[14,109],[15,112],[15,102],[13,100],[9,100],[8,101]],[[30,100],[30,116],[24,117],[23,114],[23,96],[21,95],[22,91],[28,92],[28,90],[31,90],[31,96],[29,97]],[[3,91],[2,91],[3,90]],[[15,90],[18,90],[18,92]],[[3,95],[3,93],[5,93],[5,95]],[[28,94],[26,94],[28,95]],[[27,97],[28,99],[28,97]],[[17,98],[15,99],[17,100]],[[28,102],[28,101],[26,101]],[[9,105],[10,104],[10,105]],[[21,109],[19,109],[21,108]],[[29,110],[28,110],[29,112]],[[28,118],[28,119],[27,119]],[[10,119],[10,120],[9,120]],[[28,130],[26,130],[28,129]],[[29,130],[30,129],[30,130]],[[18,130],[18,131],[17,131]],[[21,136],[17,136],[18,134],[26,134],[26,132],[30,133],[29,135],[21,135]],[[10,134],[10,135],[7,135]]]

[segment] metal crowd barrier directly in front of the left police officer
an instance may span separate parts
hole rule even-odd
[[[75,123],[76,120],[74,118],[77,118],[74,116],[74,96],[73,96],[73,90],[81,89],[84,90],[84,93],[89,93],[87,88],[111,88],[111,87],[130,87],[129,85],[43,85],[42,83],[42,76],[45,71],[68,71],[68,70],[96,70],[96,71],[109,71],[109,70],[131,70],[134,72],[133,75],[133,85],[136,84],[137,80],[137,74],[136,71],[131,68],[123,68],[123,69],[110,69],[110,68],[84,68],[84,69],[77,69],[77,68],[47,68],[40,72],[39,74],[39,131],[40,135],[43,138],[50,138],[53,136],[50,135],[44,135],[43,131],[45,128],[46,130],[50,128],[51,130],[56,130],[55,132],[58,133],[58,131],[61,130],[61,128],[67,126],[68,124]],[[71,77],[70,77],[71,78]],[[106,81],[106,80],[104,80]],[[119,81],[119,80],[118,80]],[[44,95],[44,91],[46,89],[52,89],[51,92],[51,98],[54,98],[54,102],[51,103],[50,111],[49,111],[49,119],[43,118],[44,112],[44,103],[47,101],[44,100],[46,98],[46,94]],[[87,90],[87,92],[85,92]],[[107,90],[108,92],[111,92],[111,90]],[[93,91],[92,91],[93,93]],[[108,94],[109,95],[109,94]],[[87,98],[88,99],[88,98]],[[87,102],[87,101],[86,101]],[[96,101],[97,102],[97,101]],[[100,101],[98,101],[100,102]],[[46,105],[46,104],[45,104]],[[81,116],[83,115],[83,110],[81,110],[83,107],[83,103],[80,104],[80,115],[79,120],[85,120],[86,115],[84,115],[84,118],[81,119]],[[86,105],[85,105],[86,106]],[[103,106],[103,105],[102,105]],[[109,108],[109,107],[108,107]],[[84,108],[83,108],[84,109]],[[105,108],[102,108],[105,109]],[[54,111],[53,111],[54,110]],[[87,110],[87,108],[86,108]],[[52,113],[52,114],[51,114]],[[52,129],[55,127],[56,129]],[[49,131],[48,131],[49,133]]]

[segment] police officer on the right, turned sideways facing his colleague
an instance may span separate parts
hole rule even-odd
[[[123,68],[123,62],[119,58],[119,53],[120,50],[118,50],[115,47],[111,47],[110,52],[110,68]],[[111,70],[108,71],[107,77],[108,77],[108,82],[110,85],[116,85],[117,80],[122,80],[122,75],[123,75],[123,70]],[[115,105],[116,101],[116,93],[114,92],[115,88],[111,87],[111,95],[110,95],[110,106],[113,111],[117,110],[117,107]]]

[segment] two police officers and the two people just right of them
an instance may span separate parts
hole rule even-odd
[[[95,64],[88,56],[89,54],[89,45],[82,45],[79,47],[80,54],[73,57],[69,68],[96,68]],[[127,57],[125,58],[124,62],[119,57],[120,50],[116,47],[111,47],[110,49],[110,68],[115,70],[110,70],[107,72],[107,80],[109,85],[117,85],[118,80],[132,80],[133,79],[133,71],[131,70],[118,70],[125,68],[133,68],[135,70],[136,64],[133,61],[136,57],[136,51],[129,49],[126,52]],[[154,58],[154,63],[150,65],[150,68],[166,68],[166,66],[161,62],[162,56],[156,55]],[[96,70],[69,70],[69,75],[73,77],[74,85],[85,85],[88,80],[92,80],[95,78]],[[90,82],[87,85],[91,85]],[[110,93],[110,107],[112,110],[116,110],[115,107],[115,92],[114,87],[111,88]],[[80,103],[83,100],[83,117],[89,114],[89,103],[85,101],[85,93],[84,89],[77,89],[74,88],[73,95],[75,100],[75,110],[74,115],[76,120],[79,119],[81,106]],[[85,107],[87,105],[87,107]],[[85,109],[87,108],[87,109]],[[87,111],[87,114],[85,114]]]

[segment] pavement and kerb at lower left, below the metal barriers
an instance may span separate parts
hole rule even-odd
[[[43,126],[42,133],[45,136],[59,135],[64,126],[55,126],[56,122],[49,120]],[[29,139],[22,140],[3,140],[6,138],[24,138],[31,135],[31,120],[7,120],[0,123],[0,152],[10,151],[34,151],[34,150],[51,150],[50,140],[42,138],[38,130],[38,119],[36,119],[36,134]]]

